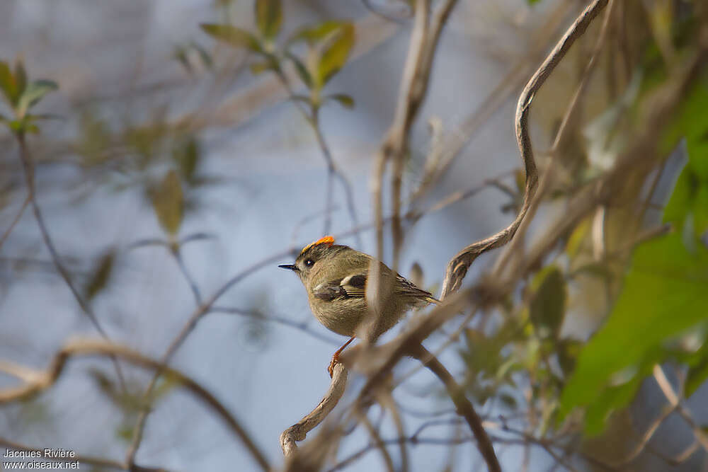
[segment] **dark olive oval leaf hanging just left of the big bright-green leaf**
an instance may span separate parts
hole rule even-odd
[[[566,280],[558,267],[550,265],[537,274],[534,285],[537,289],[530,304],[531,321],[541,332],[546,330],[557,338],[566,312]]]

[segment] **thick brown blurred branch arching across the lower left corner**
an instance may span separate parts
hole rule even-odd
[[[202,387],[201,384],[191,377],[182,374],[175,369],[166,367],[162,362],[145,357],[139,352],[131,350],[128,347],[116,345],[103,340],[79,339],[69,341],[69,343],[64,345],[64,347],[62,347],[62,349],[55,354],[55,357],[50,362],[50,366],[47,367],[46,370],[28,369],[26,367],[16,366],[10,362],[1,362],[0,371],[8,372],[13,376],[19,376],[19,378],[24,381],[24,385],[0,390],[0,403],[20,401],[50,388],[55,384],[57,379],[59,379],[59,376],[62,375],[67,360],[71,357],[88,356],[118,357],[139,367],[164,372],[164,374],[167,374],[172,380],[176,381],[178,384],[181,384],[184,388],[190,391],[190,393],[199,398],[203,403],[211,408],[214,413],[217,413],[219,418],[222,418],[229,429],[232,430],[234,435],[244,443],[244,446],[248,449],[249,453],[253,456],[253,459],[258,463],[258,465],[261,466],[264,471],[268,471],[269,465],[268,461],[265,459],[265,455],[260,449],[258,449],[258,446],[256,446],[253,442],[244,427],[241,426],[241,422],[236,420],[234,415],[232,415],[232,413],[230,413],[229,410],[219,400],[217,400],[212,393],[210,393],[210,391]],[[123,468],[130,471],[146,470],[144,468],[136,468],[135,464],[132,464],[132,462],[129,461],[125,461]]]

